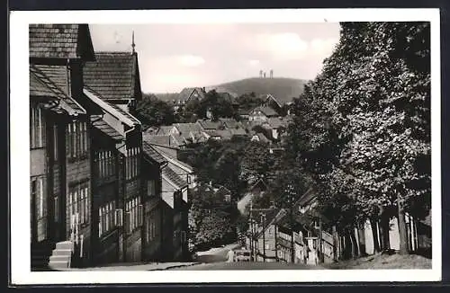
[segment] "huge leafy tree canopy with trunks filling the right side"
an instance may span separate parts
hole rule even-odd
[[[288,148],[324,191],[341,229],[429,208],[429,23],[346,22],[322,73],[294,106]],[[330,213],[331,214],[331,213]],[[375,247],[377,244],[375,244]]]

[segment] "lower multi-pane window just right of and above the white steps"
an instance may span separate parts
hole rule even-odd
[[[76,224],[85,225],[89,222],[89,188],[88,182],[76,184],[69,188],[67,210]]]

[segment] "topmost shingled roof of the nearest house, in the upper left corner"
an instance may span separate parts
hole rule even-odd
[[[30,58],[94,60],[87,24],[30,24]]]

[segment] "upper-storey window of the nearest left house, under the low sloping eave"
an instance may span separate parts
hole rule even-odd
[[[82,158],[87,155],[87,124],[73,121],[67,125],[67,152],[71,158]]]

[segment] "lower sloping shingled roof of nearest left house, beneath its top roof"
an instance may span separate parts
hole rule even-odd
[[[85,109],[81,107],[74,99],[67,96],[57,84],[53,82],[49,76],[45,75],[40,69],[34,65],[30,66],[30,95],[31,96],[47,96],[58,98],[62,103],[60,106],[66,111],[75,114],[85,114]]]

